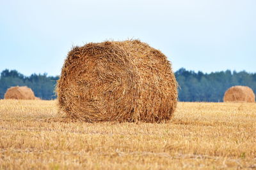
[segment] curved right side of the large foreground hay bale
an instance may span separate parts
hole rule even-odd
[[[143,122],[170,120],[177,106],[177,81],[166,56],[141,41],[117,42],[134,57],[140,75],[140,118]]]

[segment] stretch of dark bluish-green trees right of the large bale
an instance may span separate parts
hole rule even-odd
[[[184,68],[175,72],[179,83],[179,101],[221,102],[225,91],[234,85],[244,85],[256,92],[256,73],[218,71],[202,73]]]

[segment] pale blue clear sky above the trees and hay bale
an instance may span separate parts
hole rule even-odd
[[[0,71],[60,74],[73,45],[140,39],[173,69],[256,72],[255,0],[0,0]]]

